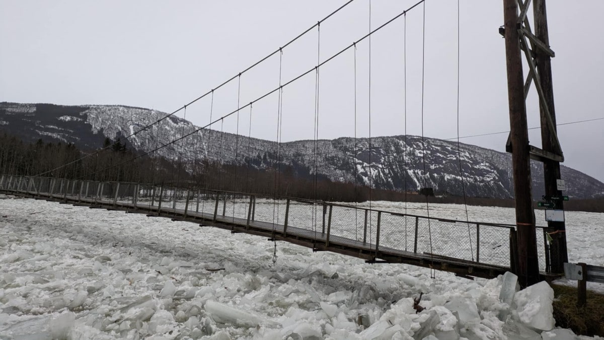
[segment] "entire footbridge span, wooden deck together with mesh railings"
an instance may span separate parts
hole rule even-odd
[[[515,247],[515,228],[506,224],[428,218],[338,203],[239,192],[138,183],[5,177],[0,180],[0,194],[188,221],[233,233],[286,241],[314,251],[341,253],[368,263],[411,264],[467,278],[493,278],[513,270],[510,263],[514,262],[510,258],[514,252],[510,250]],[[257,201],[257,198],[262,199]],[[281,213],[276,220],[275,204]],[[359,215],[360,227],[355,223]],[[432,228],[430,235],[426,234],[426,225],[428,229]],[[469,226],[472,226],[470,233]],[[410,242],[407,242],[407,234]]]

